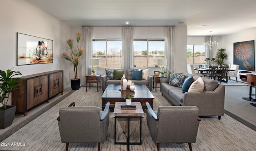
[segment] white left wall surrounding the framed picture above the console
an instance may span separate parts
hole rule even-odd
[[[64,70],[64,87],[67,87],[72,66],[60,54],[67,51],[65,44],[72,35],[71,27],[23,0],[5,0],[0,5],[0,14],[0,70],[14,67],[14,71],[21,71],[24,76]],[[17,32],[53,40],[53,63],[16,66]]]

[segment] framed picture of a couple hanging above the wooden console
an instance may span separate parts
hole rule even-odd
[[[17,66],[53,62],[53,40],[17,33]]]

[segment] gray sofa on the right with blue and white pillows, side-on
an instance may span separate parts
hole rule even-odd
[[[192,76],[196,81],[200,76],[185,74],[185,79]],[[204,81],[204,91],[182,93],[181,87],[174,87],[166,83],[167,77],[160,78],[160,91],[173,105],[180,105],[180,102],[189,106],[197,106],[199,116],[218,116],[220,119],[224,115],[225,85],[218,84],[217,81],[202,77]]]

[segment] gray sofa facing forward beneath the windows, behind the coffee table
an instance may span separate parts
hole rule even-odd
[[[133,70],[138,70],[138,69],[116,69],[116,70],[124,70],[124,74],[125,74],[125,78],[126,79],[132,79],[132,71]],[[148,87],[148,89],[151,91],[152,90],[152,80],[153,77],[148,75],[148,80],[132,80],[132,82],[134,82],[135,85],[146,85]],[[120,84],[121,80],[107,80],[107,76],[106,74],[104,74],[101,77],[101,82],[102,82],[102,90],[105,91],[105,89],[107,88],[107,86],[109,84],[115,84],[118,85]]]

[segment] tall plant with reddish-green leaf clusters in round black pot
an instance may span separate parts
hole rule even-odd
[[[69,39],[67,40],[67,44],[71,50],[71,56],[68,56],[67,53],[62,53],[62,58],[72,62],[74,65],[74,74],[75,77],[71,80],[71,88],[72,90],[78,90],[80,88],[80,78],[77,77],[77,67],[79,65],[79,57],[84,54],[84,48],[80,47],[79,48],[79,42],[82,39],[82,34],[80,32],[76,33],[76,42],[77,42],[77,50],[73,48],[73,40]]]

